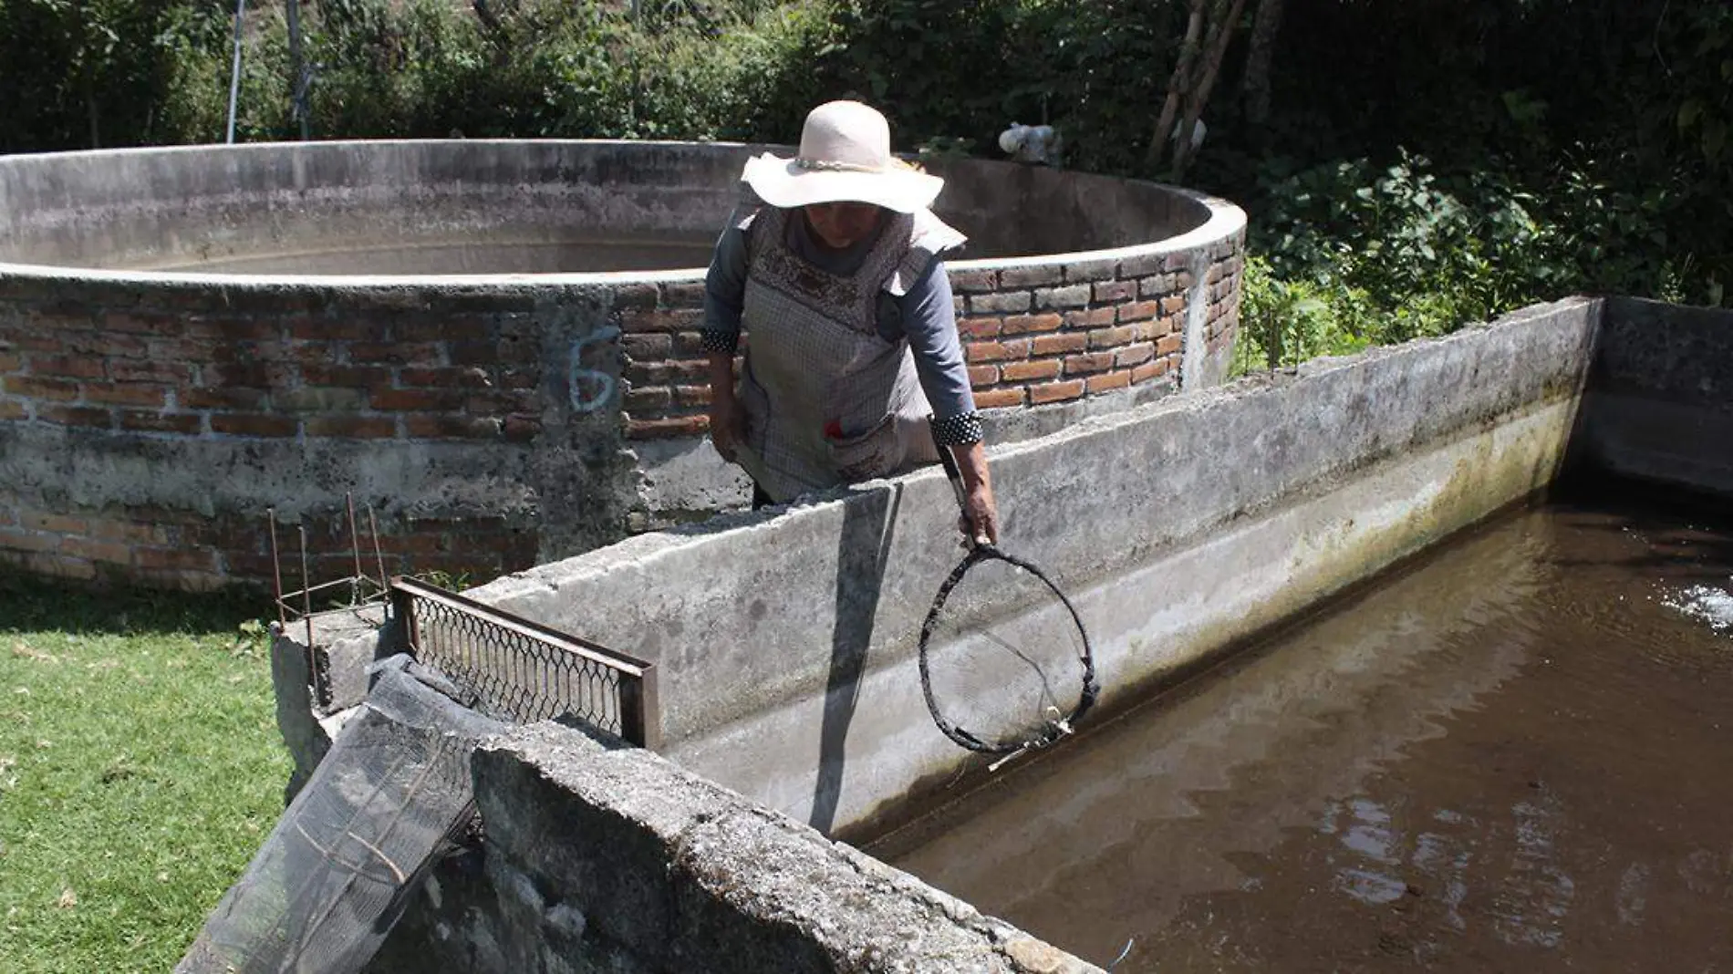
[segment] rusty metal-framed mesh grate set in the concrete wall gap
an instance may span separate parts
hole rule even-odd
[[[655,667],[414,579],[392,579],[409,653],[496,719],[577,718],[660,747]]]

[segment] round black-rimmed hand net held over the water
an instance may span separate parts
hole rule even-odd
[[[1050,743],[1094,700],[1088,636],[1031,565],[981,549],[922,627],[922,688],[951,740],[986,752]]]

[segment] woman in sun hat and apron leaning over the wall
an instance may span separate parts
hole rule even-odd
[[[754,504],[766,504],[950,449],[965,529],[996,542],[943,263],[964,236],[927,210],[944,180],[894,159],[889,123],[860,102],[818,106],[795,158],[759,156],[742,179],[764,206],[723,231],[705,281],[716,451],[747,470]]]

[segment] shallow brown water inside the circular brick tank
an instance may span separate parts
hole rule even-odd
[[[709,267],[711,243],[688,241],[404,241],[380,246],[222,253],[137,265],[196,274],[594,274]]]

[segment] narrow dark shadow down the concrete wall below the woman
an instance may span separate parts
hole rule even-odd
[[[830,679],[825,686],[825,719],[818,737],[818,780],[813,787],[813,828],[830,834],[842,795],[844,745],[861,678],[866,672],[866,646],[872,643],[873,617],[891,553],[896,511],[903,489],[892,485],[849,497],[842,508],[842,532],[837,542],[837,622],[830,634]]]

